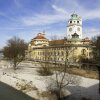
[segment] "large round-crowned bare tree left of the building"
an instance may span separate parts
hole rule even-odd
[[[14,70],[24,60],[26,48],[27,44],[20,38],[13,37],[7,41],[7,46],[4,47],[3,54],[5,58],[12,61]]]

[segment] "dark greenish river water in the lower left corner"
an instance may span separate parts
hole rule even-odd
[[[0,100],[35,100],[11,86],[0,82]]]

